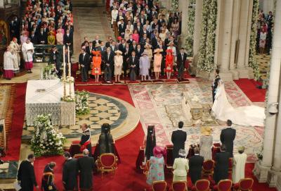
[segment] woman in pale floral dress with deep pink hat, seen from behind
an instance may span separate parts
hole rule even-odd
[[[164,155],[166,151],[161,147],[154,147],[153,155],[150,157],[150,169],[146,183],[151,185],[158,180],[165,180],[164,178]]]

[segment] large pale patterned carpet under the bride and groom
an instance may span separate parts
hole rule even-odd
[[[225,82],[225,85],[228,100],[233,106],[253,104],[235,82]],[[129,90],[136,108],[141,113],[141,123],[145,133],[148,125],[155,125],[157,144],[161,146],[171,143],[171,133],[177,128],[177,123],[173,118],[184,120],[181,110],[182,92],[196,95],[202,104],[207,104],[210,107],[212,104],[211,82],[202,79],[190,79],[190,84],[129,85]],[[259,105],[261,106],[260,103]],[[174,111],[167,111],[168,109],[174,109]],[[172,118],[171,114],[173,114]],[[234,151],[237,152],[237,147],[244,145],[245,152],[248,154],[248,162],[253,162],[256,159],[255,154],[261,149],[263,128],[233,126],[237,130]],[[214,142],[219,142],[219,135],[221,130],[226,128],[226,123],[217,121],[217,125],[212,128]],[[185,125],[184,130],[188,133],[186,148],[190,144],[199,143],[200,124]]]

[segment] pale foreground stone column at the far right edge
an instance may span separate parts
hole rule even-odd
[[[268,87],[267,106],[278,101],[278,90],[280,87],[280,63],[281,63],[281,1],[277,1],[276,18],[273,35],[273,51],[270,60],[270,79]],[[273,162],[273,148],[275,139],[276,115],[266,113],[265,133],[263,140],[263,160],[255,164],[254,175],[260,183],[268,180],[268,171]],[[280,135],[278,135],[280,136]],[[276,147],[280,149],[280,147]],[[279,153],[277,153],[279,154]],[[268,180],[270,182],[270,180]]]

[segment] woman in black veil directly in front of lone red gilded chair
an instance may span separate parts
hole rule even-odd
[[[110,124],[103,123],[101,126],[101,134],[98,138],[98,149],[100,154],[112,153],[115,154],[115,149],[113,147],[114,140],[110,134]]]

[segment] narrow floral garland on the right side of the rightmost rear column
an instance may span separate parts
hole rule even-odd
[[[249,67],[254,70],[255,80],[259,80],[261,77],[259,71],[259,63],[256,61],[256,24],[259,18],[259,0],[253,1],[253,13],[251,16],[251,35],[250,35],[250,49],[249,49]]]

